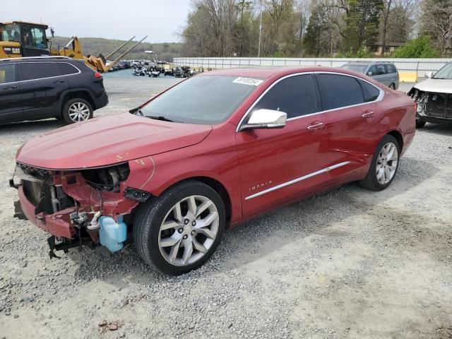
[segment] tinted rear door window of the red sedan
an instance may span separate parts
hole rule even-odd
[[[316,74],[323,110],[362,104],[361,85],[357,78],[338,74]]]

